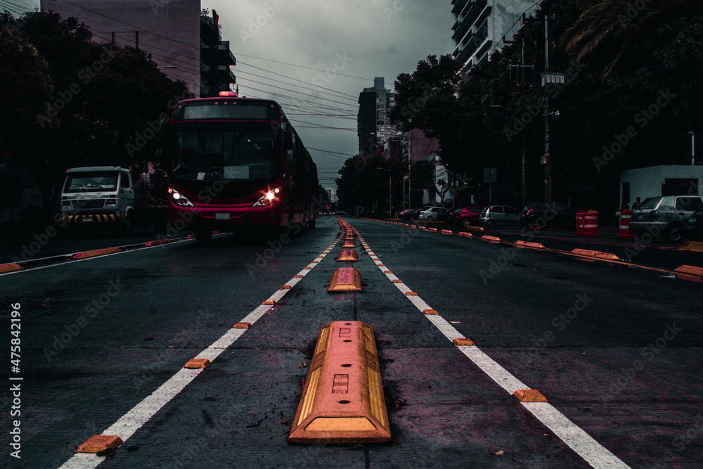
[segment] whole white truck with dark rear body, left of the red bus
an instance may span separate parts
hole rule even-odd
[[[167,205],[155,198],[149,173],[140,174],[132,184],[129,169],[123,167],[77,167],[66,170],[61,213],[62,224],[77,238],[100,229],[127,236],[134,227],[155,226],[160,231]]]

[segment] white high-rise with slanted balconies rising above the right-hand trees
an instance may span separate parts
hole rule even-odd
[[[452,56],[464,64],[463,72],[489,60],[520,29],[522,15],[537,8],[531,0],[451,0],[451,5]]]

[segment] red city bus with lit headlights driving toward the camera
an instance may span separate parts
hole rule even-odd
[[[167,128],[169,224],[212,232],[315,227],[317,167],[275,101],[223,92],[176,104]]]

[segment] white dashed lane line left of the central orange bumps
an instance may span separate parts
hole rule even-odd
[[[339,242],[342,236],[339,236],[335,240],[335,245]],[[127,252],[127,251],[125,251]],[[116,253],[119,254],[119,253]],[[323,254],[323,256],[326,254]],[[94,259],[93,257],[89,259]],[[88,259],[84,259],[88,260]],[[322,260],[317,259],[316,260]],[[308,264],[312,269],[317,264]],[[305,276],[311,269],[303,269],[299,271],[296,275]],[[293,277],[284,285],[295,285],[302,278]],[[267,300],[273,300],[278,302],[281,298],[288,293],[290,289],[276,290]],[[254,311],[247,314],[247,316],[240,322],[248,322],[252,325],[258,321],[266,312],[268,312],[274,305],[262,304],[261,306],[254,309]],[[232,328],[228,329],[224,335],[219,339],[208,345],[206,349],[202,350],[195,358],[198,359],[208,359],[209,361],[214,361],[226,348],[232,345],[238,338],[240,338],[247,329]],[[169,403],[171,399],[176,397],[176,394],[181,392],[184,387],[191,383],[205,368],[188,369],[181,368],[175,375],[173,375],[166,383],[162,384],[157,390],[151,393],[148,397],[143,399],[139,404],[136,404],[131,410],[120,417],[117,422],[106,428],[101,435],[115,435],[122,439],[122,443],[127,441],[129,437],[134,435],[134,432],[139,430],[150,418],[155,416],[155,414],[162,409],[163,406]],[[93,435],[89,435],[93,436]],[[94,469],[100,463],[105,460],[105,456],[97,456],[96,454],[90,453],[76,453],[68,461],[60,466],[60,469]]]

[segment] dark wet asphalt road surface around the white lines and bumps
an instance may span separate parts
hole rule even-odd
[[[621,461],[700,467],[699,283],[346,219],[441,317]],[[223,235],[209,245],[188,240],[1,276],[0,466],[65,463],[339,233],[325,217],[280,245]],[[363,249],[354,264],[363,292],[328,294],[340,246],[100,467],[589,466],[442,335]],[[11,303],[21,304],[15,374]],[[288,444],[317,334],[342,320],[375,329],[393,440]],[[11,416],[10,377],[22,378],[20,416]],[[21,459],[10,446],[17,418]]]

